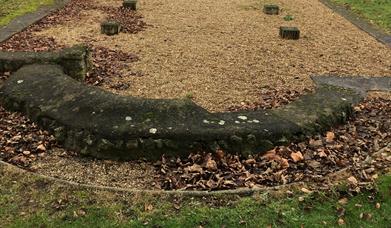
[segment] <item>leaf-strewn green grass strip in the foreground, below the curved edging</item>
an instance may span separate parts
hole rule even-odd
[[[338,203],[344,188],[243,198],[114,193],[64,186],[1,167],[0,183],[0,221],[5,227],[330,227],[337,225],[338,207],[346,210],[345,227],[391,224],[391,175],[380,178],[377,191],[350,196],[346,205]],[[372,218],[363,220],[361,213]]]

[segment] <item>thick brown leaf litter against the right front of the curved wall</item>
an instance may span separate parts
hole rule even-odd
[[[265,154],[241,158],[223,151],[197,153],[187,159],[156,163],[162,188],[218,190],[262,187],[292,182],[319,182],[346,169],[352,187],[372,182],[376,171],[391,164],[391,102],[368,99],[355,107],[346,125],[305,142],[276,147]]]

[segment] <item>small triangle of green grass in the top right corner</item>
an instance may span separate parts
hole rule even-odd
[[[333,0],[344,4],[357,14],[368,19],[375,25],[391,32],[391,1],[390,0]]]

